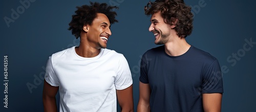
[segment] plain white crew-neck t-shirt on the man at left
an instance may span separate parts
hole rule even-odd
[[[60,111],[117,111],[116,89],[132,85],[125,57],[113,50],[101,49],[96,57],[84,58],[75,47],[49,57],[46,81],[59,86]]]

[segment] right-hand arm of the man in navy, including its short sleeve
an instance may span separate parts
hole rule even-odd
[[[218,60],[211,62],[203,75],[202,100],[205,112],[220,112],[223,93],[222,72]]]

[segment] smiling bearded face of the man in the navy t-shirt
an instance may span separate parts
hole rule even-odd
[[[160,12],[157,12],[151,17],[151,25],[148,29],[155,35],[155,44],[165,44],[169,40],[170,25],[164,23],[164,19]]]

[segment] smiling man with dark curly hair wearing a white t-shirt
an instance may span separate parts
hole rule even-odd
[[[97,2],[77,7],[69,30],[79,46],[49,57],[43,89],[45,111],[134,111],[133,80],[125,57],[106,49],[117,7]]]

